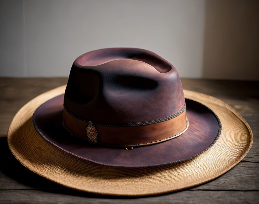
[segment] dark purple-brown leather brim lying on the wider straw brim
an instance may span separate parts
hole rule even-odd
[[[60,150],[101,165],[145,167],[185,161],[211,147],[221,132],[221,123],[212,110],[197,101],[185,99],[189,127],[176,138],[134,147],[130,151],[123,147],[92,145],[71,135],[63,127],[63,101],[64,94],[40,105],[33,115],[35,129],[43,139]]]

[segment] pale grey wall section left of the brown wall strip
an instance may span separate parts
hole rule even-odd
[[[204,0],[25,0],[17,5],[24,10],[25,26],[25,62],[20,68],[25,69],[23,76],[68,76],[73,61],[85,52],[137,47],[167,59],[182,77],[201,77],[204,6]],[[12,11],[13,5],[8,13]],[[8,24],[10,15],[1,21]],[[16,28],[10,26],[9,31],[13,39],[23,41]],[[0,59],[0,75],[19,76],[14,70],[21,61],[12,66],[9,60]]]

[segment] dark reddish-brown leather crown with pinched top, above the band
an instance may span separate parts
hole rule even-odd
[[[99,123],[159,120],[185,105],[174,66],[137,48],[108,48],[79,56],[72,65],[64,106]]]

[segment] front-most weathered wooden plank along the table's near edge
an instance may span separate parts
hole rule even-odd
[[[72,190],[8,190],[0,191],[0,203],[257,203],[257,191],[180,191],[172,194],[132,198],[114,197]]]

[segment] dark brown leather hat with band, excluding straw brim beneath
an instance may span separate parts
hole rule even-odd
[[[61,150],[124,167],[193,158],[221,132],[212,110],[184,98],[171,63],[136,48],[102,49],[78,57],[65,93],[37,108],[33,120],[43,139]]]

